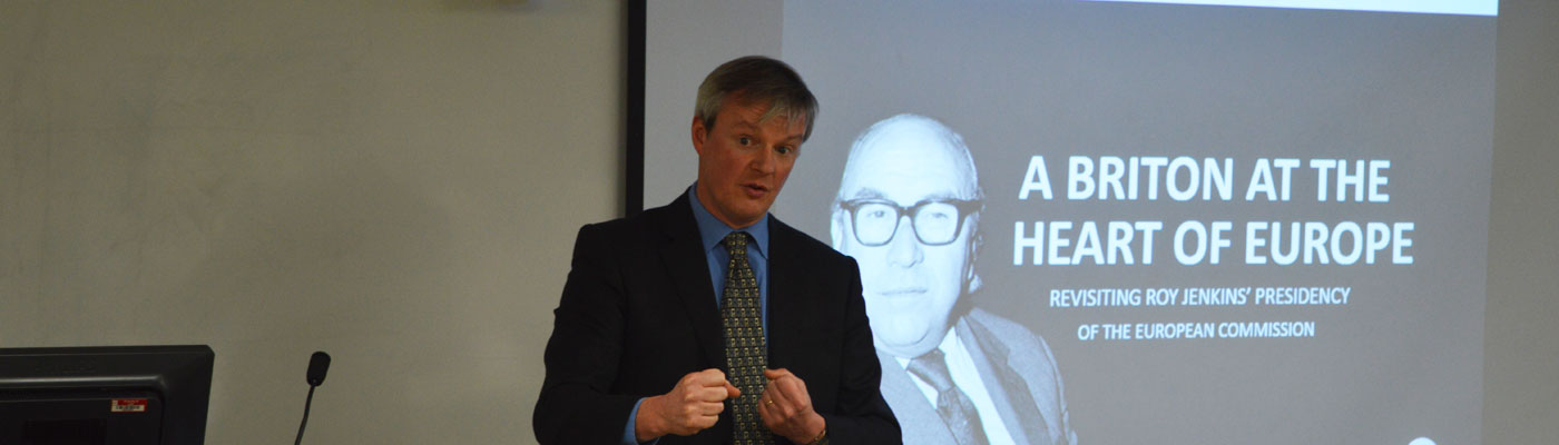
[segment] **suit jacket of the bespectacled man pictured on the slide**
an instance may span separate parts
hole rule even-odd
[[[974,359],[981,381],[1013,442],[1077,442],[1066,419],[1055,358],[1043,339],[1020,324],[979,308],[959,317],[954,331]],[[886,353],[879,353],[878,359],[882,364],[882,397],[904,428],[904,443],[956,443],[953,433],[937,415],[937,408],[926,400],[898,359]]]

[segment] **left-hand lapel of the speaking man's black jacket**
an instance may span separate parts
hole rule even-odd
[[[666,272],[677,283],[688,319],[692,321],[694,335],[703,349],[709,366],[725,369],[725,347],[720,336],[720,313],[711,286],[709,263],[703,252],[703,241],[698,238],[698,223],[692,219],[692,207],[683,194],[667,205],[661,229],[667,235],[667,243],[661,249],[661,263]]]

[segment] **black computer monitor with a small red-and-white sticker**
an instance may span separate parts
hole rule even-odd
[[[206,440],[207,345],[0,349],[0,443]]]

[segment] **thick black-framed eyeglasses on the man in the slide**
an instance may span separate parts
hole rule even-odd
[[[898,219],[909,216],[910,230],[915,240],[926,246],[942,246],[953,243],[963,230],[963,216],[979,212],[979,201],[965,199],[926,199],[915,205],[898,205],[887,199],[851,199],[839,202],[839,208],[850,212],[850,224],[856,232],[856,241],[876,247],[893,241],[898,232]]]

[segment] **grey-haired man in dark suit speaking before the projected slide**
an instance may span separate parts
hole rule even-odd
[[[898,443],[856,263],[769,215],[817,101],[780,61],[698,87],[698,180],[580,229],[541,443]]]

